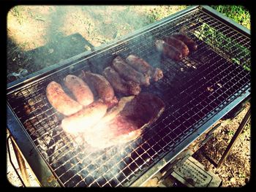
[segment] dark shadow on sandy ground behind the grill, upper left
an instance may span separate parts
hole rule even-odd
[[[17,47],[12,39],[8,39],[8,41],[9,50]],[[7,82],[17,79],[17,77],[10,75],[12,72],[17,73],[22,69],[26,69],[29,74],[37,72],[45,67],[58,64],[60,61],[83,53],[86,50],[91,50],[93,47],[81,34],[76,33],[67,37],[60,35],[58,39],[34,50],[23,52],[16,49],[13,51],[13,54],[16,54],[15,58],[17,58],[17,61],[16,59],[13,61],[13,57],[7,59],[7,74],[9,75]]]

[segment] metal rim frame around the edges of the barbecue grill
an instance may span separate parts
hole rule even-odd
[[[249,30],[244,28],[243,26],[240,26],[238,23],[233,22],[232,20],[225,18],[223,15],[216,12],[214,9],[211,9],[211,7],[207,6],[193,6],[189,7],[187,9],[182,10],[181,12],[177,12],[176,14],[170,15],[169,17],[159,20],[156,23],[152,23],[149,26],[146,26],[145,28],[141,28],[138,31],[135,31],[132,34],[127,35],[126,37],[123,37],[122,39],[118,41],[110,42],[108,45],[102,45],[100,47],[95,48],[93,51],[81,53],[80,55],[76,55],[75,57],[69,58],[66,61],[63,61],[59,64],[50,66],[47,69],[42,69],[39,72],[36,72],[34,74],[29,75],[26,78],[17,80],[15,82],[11,82],[7,85],[7,91],[11,93],[12,91],[15,91],[16,88],[19,88],[22,85],[29,85],[30,82],[33,82],[34,80],[39,80],[40,78],[44,78],[48,74],[53,74],[53,72],[58,72],[59,69],[64,69],[66,67],[69,67],[71,65],[75,65],[76,61],[80,61],[81,58],[88,58],[91,55],[94,55],[100,50],[108,50],[108,48],[113,47],[113,45],[118,45],[126,40],[129,40],[133,37],[136,37],[137,35],[141,35],[143,32],[147,32],[148,30],[151,30],[152,28],[157,28],[157,26],[161,24],[165,24],[165,22],[168,20],[173,20],[175,18],[178,18],[180,16],[183,16],[187,14],[188,12],[191,12],[194,9],[203,9],[205,12],[207,12],[209,15],[213,15],[214,18],[217,18],[218,20],[221,20],[222,23],[225,23],[228,26],[232,26],[233,28],[236,28],[237,31],[239,31],[242,34],[246,34],[246,36],[249,37]],[[222,109],[220,112],[217,113],[217,115],[214,115],[213,118],[208,120],[203,126],[200,126],[200,128],[197,129],[197,131],[190,135],[184,142],[181,142],[176,149],[167,155],[165,155],[164,158],[159,160],[157,164],[154,164],[154,166],[151,166],[147,170],[146,173],[142,174],[141,177],[138,178],[138,180],[135,180],[132,185],[138,186],[145,183],[154,173],[159,171],[159,169],[162,169],[167,163],[170,163],[173,161],[179,153],[181,153],[182,150],[184,150],[192,141],[197,139],[197,137],[200,136],[200,134],[203,134],[203,132],[207,131],[208,128],[211,127],[214,123],[217,122],[220,118],[222,118],[227,112],[233,109],[233,107],[236,107],[237,104],[239,104],[241,101],[243,101],[247,96],[250,94],[250,88],[247,88],[244,94],[239,96],[237,99],[235,99],[233,102],[228,104],[224,109]],[[50,170],[50,167],[45,164],[45,161],[43,160],[41,154],[37,150],[37,148],[34,146],[34,143],[31,141],[29,135],[26,133],[26,130],[24,130],[24,127],[18,120],[18,117],[15,115],[9,104],[7,104],[7,127],[10,129],[10,133],[12,134],[12,137],[14,137],[15,141],[18,143],[18,146],[20,147],[20,150],[22,151],[23,155],[26,157],[27,161],[29,162],[31,169],[34,171],[34,173],[39,176],[38,180],[42,185],[44,186],[56,186],[61,185],[61,182],[59,183],[58,180],[52,180],[50,183],[48,182],[48,178],[54,177],[54,172]],[[187,142],[189,140],[189,142]],[[32,151],[32,152],[31,152]],[[30,154],[33,155],[30,155]],[[38,162],[34,161],[34,158],[37,158]],[[38,170],[38,168],[41,168],[41,170]],[[40,175],[42,177],[40,177]]]

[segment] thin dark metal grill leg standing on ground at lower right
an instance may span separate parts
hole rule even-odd
[[[238,129],[236,130],[236,133],[232,137],[230,143],[227,145],[227,148],[226,148],[225,152],[223,153],[222,158],[220,158],[220,160],[219,160],[217,168],[219,168],[219,166],[222,166],[223,162],[225,161],[225,159],[229,155],[231,148],[235,144],[236,139],[238,139],[238,136],[241,134],[241,131],[243,131],[244,126],[246,126],[246,124],[248,123],[248,120],[249,120],[250,117],[251,117],[251,108],[249,108],[249,110],[246,112],[246,115],[244,116],[244,119],[242,120],[242,122],[238,126]]]

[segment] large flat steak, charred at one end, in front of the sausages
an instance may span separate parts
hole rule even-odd
[[[123,97],[97,125],[86,131],[84,138],[99,149],[130,142],[140,137],[143,128],[154,123],[164,109],[163,101],[149,93]]]

